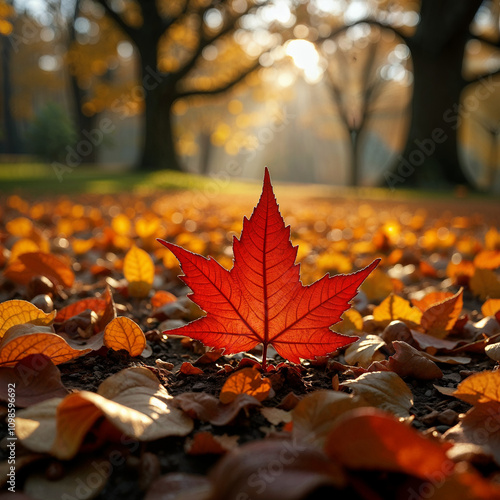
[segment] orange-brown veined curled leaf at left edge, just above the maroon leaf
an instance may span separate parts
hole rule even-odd
[[[71,347],[49,327],[27,323],[9,328],[4,335],[0,342],[0,366],[13,366],[31,354],[43,354],[59,365],[90,351]]]

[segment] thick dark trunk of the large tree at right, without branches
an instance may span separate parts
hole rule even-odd
[[[414,70],[411,125],[393,185],[470,185],[459,163],[457,128],[465,44],[480,4],[422,1],[421,22],[408,41]]]

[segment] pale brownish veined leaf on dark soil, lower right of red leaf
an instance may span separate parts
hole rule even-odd
[[[413,406],[413,394],[403,379],[393,372],[363,373],[342,385],[352,389],[366,403],[398,417],[408,418]]]

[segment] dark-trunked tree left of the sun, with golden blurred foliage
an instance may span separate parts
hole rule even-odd
[[[259,66],[259,56],[276,40],[238,43],[241,21],[266,1],[177,0],[120,3],[94,0],[133,43],[139,55],[144,94],[143,169],[179,170],[172,106],[181,98],[215,95],[232,88]],[[117,10],[116,6],[121,10]]]

